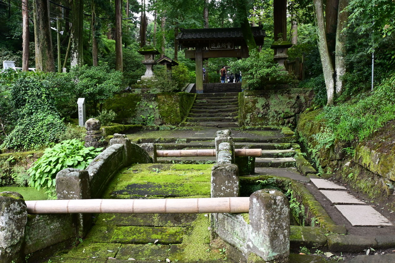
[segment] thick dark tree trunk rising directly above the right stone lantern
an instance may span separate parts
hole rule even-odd
[[[274,19],[274,41],[287,40],[287,1],[273,1]]]

